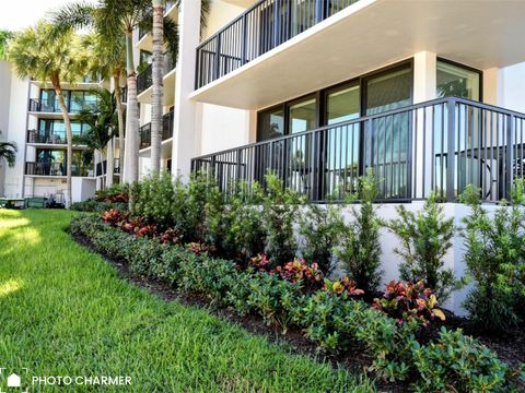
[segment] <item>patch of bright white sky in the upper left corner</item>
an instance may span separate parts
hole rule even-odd
[[[19,31],[32,26],[46,12],[71,0],[0,0],[0,29]]]

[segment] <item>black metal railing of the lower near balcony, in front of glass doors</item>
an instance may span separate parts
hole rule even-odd
[[[454,202],[467,184],[483,201],[508,198],[525,175],[525,115],[463,98],[440,98],[191,160],[229,192],[231,180],[258,181],[270,170],[312,202],[343,201],[373,169],[382,201],[435,192]]]

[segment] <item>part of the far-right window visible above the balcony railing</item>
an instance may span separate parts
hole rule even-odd
[[[436,96],[462,97],[474,100],[481,98],[481,72],[467,67],[438,60]]]

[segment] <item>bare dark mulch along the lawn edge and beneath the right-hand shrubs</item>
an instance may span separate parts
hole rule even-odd
[[[81,246],[90,249],[92,252],[102,255],[107,262],[117,267],[121,278],[148,289],[165,301],[176,300],[185,306],[198,307],[218,315],[219,318],[233,322],[246,331],[265,336],[273,343],[289,344],[291,349],[298,354],[306,354],[316,357],[320,361],[328,361],[335,368],[342,367],[351,372],[366,372],[372,379],[373,373],[366,371],[372,364],[372,358],[365,354],[365,347],[355,345],[350,350],[342,354],[322,353],[318,350],[314,342],[304,337],[303,333],[298,329],[290,329],[287,333],[281,333],[273,326],[268,326],[260,315],[248,314],[240,315],[226,308],[211,307],[205,296],[200,294],[186,294],[173,289],[168,284],[150,279],[143,276],[136,276],[129,272],[127,263],[100,252],[93,243],[84,236],[72,235],[72,238]],[[494,336],[479,331],[468,319],[455,317],[446,313],[446,321],[436,321],[431,327],[427,329],[424,336],[418,337],[421,342],[429,342],[438,337],[439,330],[442,325],[447,329],[460,327],[466,334],[470,334],[487,345],[490,349],[498,354],[498,357],[509,364],[511,367],[517,367],[525,362],[525,326],[509,332],[505,335]],[[378,391],[383,392],[406,392],[408,385],[402,382],[390,383],[381,379],[376,380]]]

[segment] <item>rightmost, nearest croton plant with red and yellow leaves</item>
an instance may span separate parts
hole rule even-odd
[[[399,324],[417,320],[428,326],[435,318],[444,321],[445,314],[436,308],[438,299],[423,281],[405,283],[392,281],[387,284],[382,299],[375,299],[373,307],[397,319]]]

